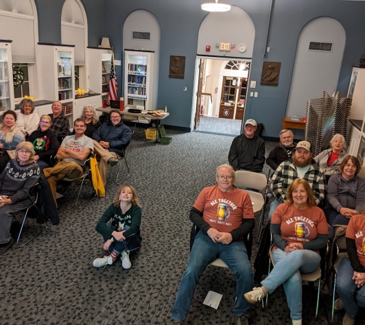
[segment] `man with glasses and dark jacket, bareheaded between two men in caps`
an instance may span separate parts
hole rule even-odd
[[[294,134],[290,130],[281,130],[280,134],[280,144],[271,150],[266,163],[276,171],[276,168],[283,163],[283,161],[290,160],[292,158],[293,152],[296,147],[294,143]]]

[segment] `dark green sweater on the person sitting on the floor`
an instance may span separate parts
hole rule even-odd
[[[139,234],[141,216],[142,210],[139,206],[132,205],[132,207],[123,215],[120,206],[110,204],[97,222],[96,231],[103,236],[111,238],[113,231],[121,231],[124,227],[129,226],[130,228],[123,233],[124,237],[128,237],[131,234]],[[112,219],[111,224],[114,228],[106,226],[106,223],[110,219]]]

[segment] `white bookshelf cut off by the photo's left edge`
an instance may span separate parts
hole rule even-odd
[[[5,110],[14,110],[11,43],[0,40],[0,115]]]

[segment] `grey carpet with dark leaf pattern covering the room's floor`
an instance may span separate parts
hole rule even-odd
[[[60,226],[52,227],[25,248],[2,256],[0,324],[168,324],[176,291],[189,257],[189,210],[204,186],[215,183],[215,168],[227,163],[232,138],[200,132],[167,131],[170,145],[134,138],[127,158],[143,205],[142,248],[131,257],[132,268],[120,263],[96,269],[104,255],[97,220],[119,186],[113,167],[106,197],[71,209],[77,186],[59,200]],[[266,143],[267,152],[274,143]],[[267,172],[267,170],[266,170]],[[89,186],[89,185],[88,185]],[[89,195],[89,187],[82,192]],[[84,199],[82,199],[84,200]],[[27,221],[21,241],[38,231]],[[257,244],[254,241],[252,261]],[[304,291],[303,324],[327,324],[331,297],[322,296],[314,322],[314,293]],[[202,304],[209,290],[222,293],[217,310]],[[233,325],[235,278],[228,269],[209,266],[199,280],[185,324]],[[334,324],[343,312],[336,312]],[[365,324],[364,313],[356,324]],[[250,324],[290,324],[283,289],[269,298],[268,307],[251,309]]]

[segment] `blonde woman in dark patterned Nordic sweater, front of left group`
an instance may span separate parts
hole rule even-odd
[[[19,143],[15,159],[9,160],[0,174],[0,255],[14,242],[10,234],[12,213],[32,204],[28,194],[40,175],[39,167],[33,161],[34,154],[32,143]]]

